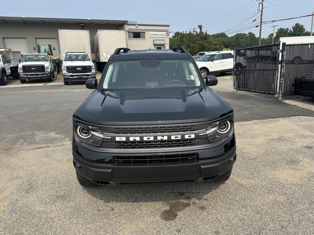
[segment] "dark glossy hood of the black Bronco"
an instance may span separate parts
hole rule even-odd
[[[209,88],[143,90],[94,91],[74,115],[100,125],[143,125],[202,122],[232,112],[232,108]]]

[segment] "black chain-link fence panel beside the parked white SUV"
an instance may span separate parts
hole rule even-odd
[[[235,90],[276,94],[279,44],[235,50]]]

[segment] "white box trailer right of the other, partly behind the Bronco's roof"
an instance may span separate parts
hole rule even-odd
[[[95,59],[107,62],[110,55],[118,47],[127,47],[127,36],[124,30],[98,30],[94,37]]]

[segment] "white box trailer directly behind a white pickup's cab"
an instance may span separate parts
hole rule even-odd
[[[59,29],[61,60],[66,52],[86,52],[92,59],[89,30]]]

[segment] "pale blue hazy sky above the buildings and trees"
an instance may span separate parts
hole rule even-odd
[[[12,0],[0,2],[2,6],[12,4]],[[171,32],[189,31],[202,24],[203,30],[210,34],[253,32],[258,36],[259,27],[254,27],[260,22],[258,3],[258,0],[15,0],[15,7],[0,15],[170,24]],[[264,0],[263,21],[309,15],[312,11],[314,0]],[[278,28],[300,23],[310,30],[311,21],[310,16],[265,24],[262,36],[267,37],[272,32],[272,25]]]

